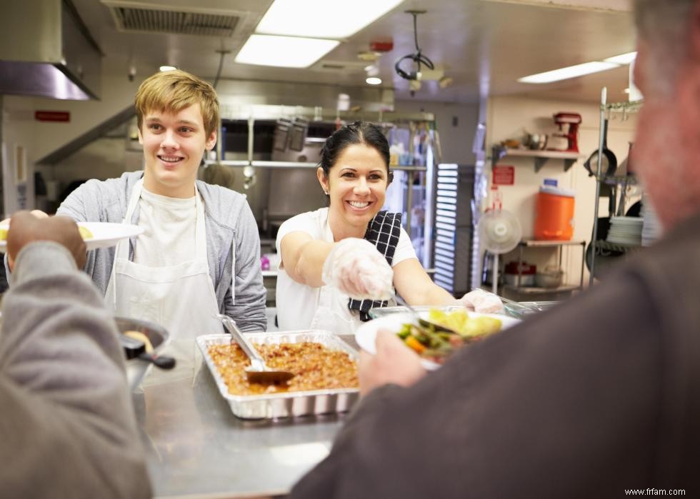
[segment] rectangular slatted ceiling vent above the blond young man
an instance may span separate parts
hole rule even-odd
[[[106,1],[103,3],[109,7],[116,28],[132,33],[232,36],[241,19],[231,14],[140,8]]]

